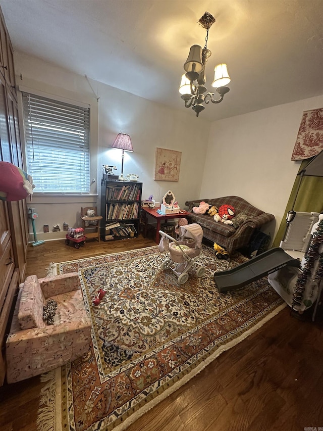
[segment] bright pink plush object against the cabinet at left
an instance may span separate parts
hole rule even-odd
[[[20,201],[33,193],[32,177],[9,162],[0,162],[0,199]]]

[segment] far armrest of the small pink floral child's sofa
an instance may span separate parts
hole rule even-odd
[[[45,299],[55,295],[77,291],[80,287],[80,280],[77,272],[39,278],[38,281]]]

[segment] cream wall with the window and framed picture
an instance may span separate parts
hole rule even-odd
[[[49,198],[37,196],[35,189],[33,202],[28,206],[38,213],[38,240],[64,237],[64,232],[44,234],[43,224],[48,224],[49,230],[54,224],[60,224],[62,229],[64,222],[77,226],[81,206],[100,206],[102,164],[116,165],[115,172],[121,172],[121,151],[110,148],[120,131],[130,134],[134,148],[134,153],[125,153],[124,174],[139,175],[143,199],[153,195],[159,201],[171,189],[183,207],[189,196],[199,196],[210,124],[197,119],[191,110],[176,111],[20,53],[15,54],[15,67],[21,88],[89,103],[92,112],[91,178],[95,182],[91,196]],[[156,147],[182,152],[178,182],[153,180]],[[33,241],[32,235],[30,240]]]

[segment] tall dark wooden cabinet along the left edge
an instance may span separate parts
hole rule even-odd
[[[13,50],[0,10],[0,161],[24,169],[18,124]],[[0,386],[6,374],[5,342],[18,285],[25,279],[28,246],[26,201],[0,200]]]

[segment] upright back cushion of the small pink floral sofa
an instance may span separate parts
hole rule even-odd
[[[40,289],[36,275],[26,278],[20,298],[18,321],[21,329],[42,328],[45,322],[42,319],[45,298]]]

